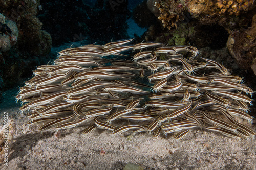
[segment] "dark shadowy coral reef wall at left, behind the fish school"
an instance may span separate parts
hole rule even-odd
[[[51,36],[41,29],[38,7],[39,0],[0,1],[0,91],[27,77],[34,69],[33,58],[39,58],[38,64],[49,60]]]

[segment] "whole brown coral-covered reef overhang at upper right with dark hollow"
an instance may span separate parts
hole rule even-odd
[[[170,45],[188,45],[189,42],[200,49],[210,47],[211,50],[222,49],[226,44],[241,69],[251,72],[255,68],[255,19],[252,17],[256,6],[253,1],[193,0],[180,1],[180,4],[159,1],[156,7],[161,12],[158,18],[170,31],[163,29],[162,35],[157,35],[148,30],[147,39],[169,41]],[[194,34],[189,34],[190,28]],[[222,56],[220,61],[225,62],[230,55]]]

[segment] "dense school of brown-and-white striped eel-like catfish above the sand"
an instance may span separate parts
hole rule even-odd
[[[20,111],[28,124],[40,130],[85,126],[83,133],[177,133],[177,139],[191,128],[237,139],[255,135],[247,113],[253,91],[242,78],[198,57],[195,47],[125,45],[132,40],[68,48],[54,65],[37,67],[16,96],[26,103]],[[185,53],[192,55],[186,59]],[[159,60],[162,55],[167,59]]]

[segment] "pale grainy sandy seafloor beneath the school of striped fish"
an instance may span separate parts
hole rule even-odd
[[[131,162],[144,169],[256,169],[255,139],[241,141],[218,133],[192,130],[181,139],[152,137],[131,131],[112,135],[106,130],[83,134],[84,127],[39,131],[28,126],[13,102],[17,89],[3,93],[3,112],[16,123],[8,166],[0,169],[123,169]],[[256,129],[255,120],[252,129]]]

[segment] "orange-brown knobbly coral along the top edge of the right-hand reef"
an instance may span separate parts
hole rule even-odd
[[[214,22],[215,16],[238,16],[241,13],[246,13],[252,10],[255,5],[253,0],[160,0],[155,3],[155,6],[160,11],[160,19],[163,23],[163,27],[167,27],[169,30],[172,27],[177,28],[177,23],[185,19],[191,19],[188,13],[196,19],[207,18]],[[229,17],[230,18],[230,17]],[[218,18],[217,20],[221,20]]]

